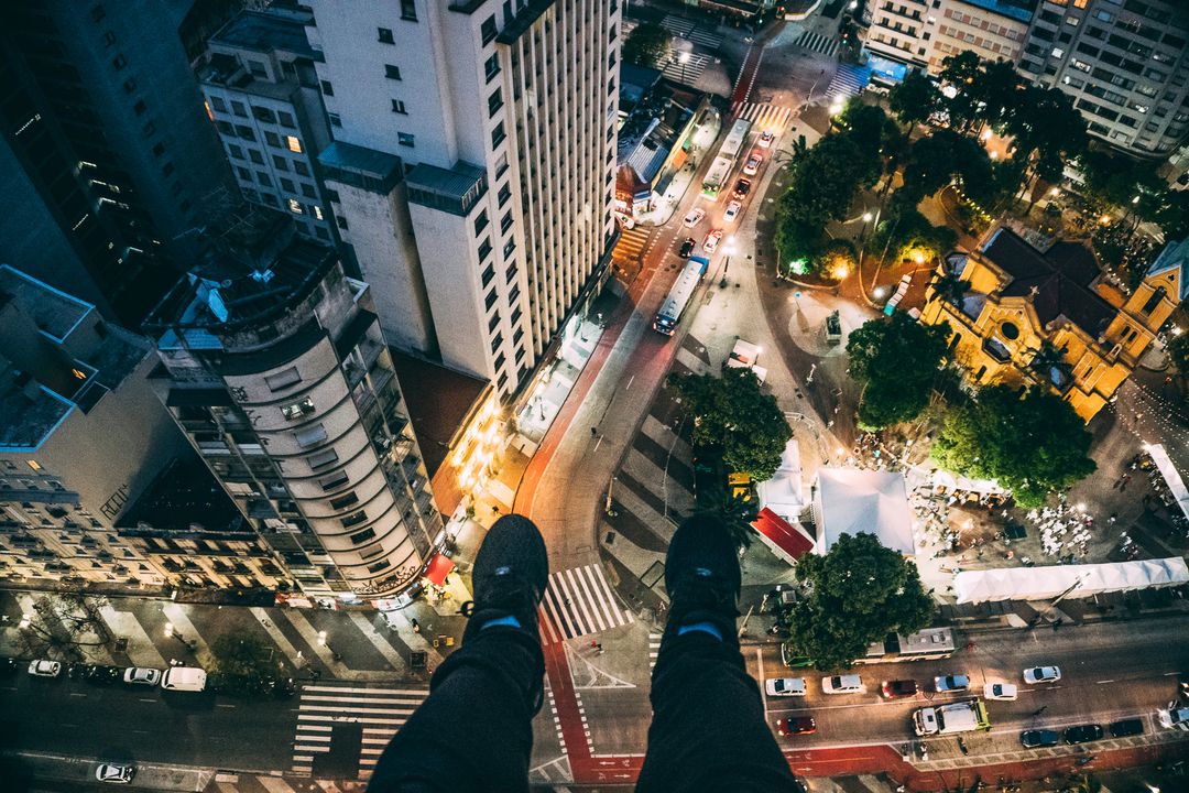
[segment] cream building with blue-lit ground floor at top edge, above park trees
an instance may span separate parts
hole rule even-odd
[[[873,76],[899,82],[908,68],[937,75],[942,61],[971,51],[1015,63],[1030,2],[1023,0],[875,0],[864,48]]]

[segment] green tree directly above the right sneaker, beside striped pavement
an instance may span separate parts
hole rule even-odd
[[[668,382],[693,414],[696,447],[719,455],[730,472],[772,479],[793,430],[755,372],[724,364],[722,377],[671,375]]]

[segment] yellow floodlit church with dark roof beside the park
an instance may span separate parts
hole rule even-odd
[[[1048,385],[1088,422],[1187,295],[1189,239],[1169,244],[1128,296],[1084,245],[1036,247],[998,226],[938,265],[920,320],[949,322],[973,382]]]

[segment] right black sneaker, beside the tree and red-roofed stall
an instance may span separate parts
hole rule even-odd
[[[742,581],[738,546],[722,520],[687,518],[673,534],[665,556],[668,628],[712,621],[734,636]]]

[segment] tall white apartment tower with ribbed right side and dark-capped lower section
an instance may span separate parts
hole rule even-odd
[[[344,241],[396,346],[501,397],[614,239],[617,0],[310,0]]]

